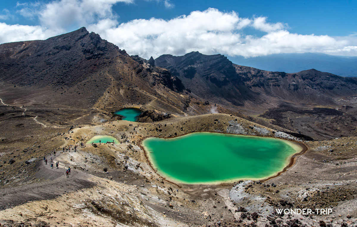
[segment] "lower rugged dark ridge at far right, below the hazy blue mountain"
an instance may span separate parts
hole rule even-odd
[[[341,77],[315,69],[289,74],[234,65],[247,87],[281,101],[333,105],[337,97],[357,94],[357,78]]]

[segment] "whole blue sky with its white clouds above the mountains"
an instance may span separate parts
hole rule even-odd
[[[285,52],[357,55],[356,0],[93,2],[2,1],[0,43],[46,39],[85,26],[145,58],[196,50],[245,57]]]

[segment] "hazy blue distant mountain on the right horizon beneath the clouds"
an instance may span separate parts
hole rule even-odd
[[[228,57],[237,65],[245,65],[266,71],[300,72],[316,69],[338,76],[357,77],[357,57],[333,56],[322,53],[271,54],[260,57]]]

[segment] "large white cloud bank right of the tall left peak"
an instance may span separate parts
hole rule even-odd
[[[246,35],[244,29],[247,27],[266,34],[261,37]],[[236,12],[221,12],[212,8],[193,11],[190,15],[171,20],[138,19],[122,24],[104,20],[90,25],[88,29],[130,54],[146,59],[191,51],[245,57],[287,52],[357,55],[354,48],[357,42],[351,45],[349,40],[326,35],[294,34],[286,30],[286,24],[269,23],[266,17],[242,18]]]

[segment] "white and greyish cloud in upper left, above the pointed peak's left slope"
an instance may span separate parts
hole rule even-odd
[[[16,12],[27,19],[38,18],[40,25],[0,25],[0,43],[47,39],[102,19],[117,19],[112,6],[118,2],[134,0],[55,0],[47,4],[24,2],[16,4]],[[0,15],[0,19],[2,19]],[[108,25],[107,25],[108,26]],[[112,24],[112,26],[114,26]]]

